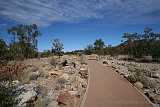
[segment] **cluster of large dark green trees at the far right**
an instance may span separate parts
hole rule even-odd
[[[160,34],[155,34],[151,32],[152,30],[152,28],[146,28],[145,34],[124,33],[123,38],[127,40],[118,46],[119,52],[139,59],[147,55],[160,58]]]

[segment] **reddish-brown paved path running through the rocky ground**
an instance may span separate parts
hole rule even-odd
[[[116,72],[87,60],[90,80],[84,107],[152,107],[133,86]]]

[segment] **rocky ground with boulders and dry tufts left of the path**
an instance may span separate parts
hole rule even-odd
[[[16,107],[79,107],[88,83],[82,56],[28,59],[20,78],[11,83]],[[8,82],[1,85],[9,86]]]

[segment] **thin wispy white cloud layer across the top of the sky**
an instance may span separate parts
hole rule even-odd
[[[106,24],[160,24],[160,0],[1,0],[0,17],[49,26],[100,19]]]

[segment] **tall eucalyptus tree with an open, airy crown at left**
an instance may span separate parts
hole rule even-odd
[[[12,34],[14,37],[13,43],[17,42],[17,47],[20,50],[20,55],[23,58],[35,57],[37,51],[36,39],[42,33],[38,30],[36,24],[33,25],[17,25],[8,29],[8,34]],[[16,41],[18,40],[18,41]]]

